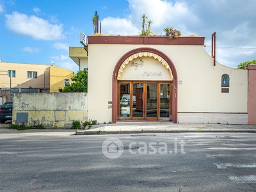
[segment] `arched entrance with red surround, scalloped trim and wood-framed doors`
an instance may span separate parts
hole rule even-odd
[[[133,79],[133,80],[130,79],[131,81],[125,81],[125,82],[120,81],[120,80],[122,80],[121,77],[122,77],[122,72],[124,71],[125,65],[128,64],[129,62],[131,62],[132,60],[138,59],[141,57],[154,58],[155,60],[158,60],[160,63],[162,63],[163,66],[166,67],[166,71],[168,71],[168,73],[169,73],[170,81],[156,81],[156,79],[155,79],[155,81],[151,81],[152,79],[148,79],[148,81],[140,81],[140,79],[136,79],[136,81],[134,81],[135,79]],[[134,66],[134,67],[136,67],[136,66]],[[154,74],[154,76],[157,76],[157,72],[156,72],[156,74]],[[129,96],[126,95],[131,100],[131,102],[129,103],[129,107],[131,110],[129,111],[129,116],[127,116],[125,118],[121,117],[122,111],[120,112],[120,88],[121,88],[121,85],[129,86],[129,89],[132,93]],[[168,88],[168,86],[170,87],[169,92],[168,92],[168,90],[164,90],[164,87]],[[133,49],[133,50],[127,52],[126,54],[124,54],[124,56],[122,56],[122,58],[120,58],[120,60],[118,60],[118,62],[116,63],[115,69],[113,71],[112,122],[115,123],[116,120],[118,120],[118,118],[130,119],[130,120],[159,120],[161,117],[163,117],[163,115],[161,116],[161,113],[163,112],[163,110],[161,110],[161,101],[162,101],[162,106],[163,106],[164,100],[161,99],[160,96],[153,96],[152,93],[151,93],[151,95],[152,95],[152,97],[154,97],[154,99],[150,98],[150,90],[155,90],[155,92],[157,93],[156,95],[159,95],[158,93],[161,92],[161,89],[163,89],[163,91],[166,91],[166,95],[167,95],[167,92],[171,93],[171,95],[168,95],[168,98],[170,99],[170,104],[171,104],[170,105],[170,113],[171,113],[170,116],[172,116],[172,122],[177,123],[177,72],[176,72],[175,66],[172,63],[172,60],[170,60],[170,58],[168,58],[168,56],[166,56],[166,54],[164,54],[163,52],[158,51],[157,49],[148,48],[148,47],[141,47],[138,49]],[[151,100],[158,100],[158,101],[156,104],[143,102],[143,104],[141,106],[139,106],[140,103],[138,101],[137,108],[142,109],[141,114],[138,115],[138,111],[140,111],[140,110],[136,110],[136,111],[132,110],[132,105],[133,105],[132,100],[133,101],[135,100],[135,97],[132,95],[135,95],[134,94],[135,92],[141,92],[141,90],[143,90],[141,97],[144,100],[151,99]],[[170,92],[170,90],[172,90],[172,91]],[[140,94],[140,93],[138,93],[138,94]],[[136,95],[138,95],[138,94],[136,93]],[[136,101],[136,103],[137,103],[137,101]],[[154,108],[154,106],[156,106],[156,108]],[[153,112],[153,113],[151,113],[153,115],[147,116],[147,112],[149,109],[151,111],[155,110],[156,115]]]

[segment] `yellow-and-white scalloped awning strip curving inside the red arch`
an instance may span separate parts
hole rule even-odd
[[[172,74],[172,69],[170,68],[170,66],[168,65],[168,63],[166,62],[166,60],[164,60],[161,56],[159,56],[158,54],[155,54],[153,52],[138,52],[138,53],[134,53],[131,56],[129,56],[129,58],[127,58],[122,65],[120,66],[119,70],[118,70],[118,75],[116,77],[117,80],[120,80],[122,77],[122,72],[124,72],[124,68],[125,65],[127,65],[130,61],[136,59],[136,58],[141,58],[141,57],[150,57],[150,58],[154,58],[155,60],[158,60],[159,62],[161,62],[168,70],[169,70],[169,74],[170,74],[170,79],[171,81],[173,81],[173,74]]]

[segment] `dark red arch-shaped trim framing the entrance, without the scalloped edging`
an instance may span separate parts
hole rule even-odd
[[[153,49],[150,47],[140,47],[137,49],[132,49],[131,51],[125,53],[116,63],[116,66],[114,68],[113,71],[113,83],[112,83],[112,123],[116,123],[117,120],[117,116],[118,116],[118,110],[117,110],[117,100],[118,100],[118,81],[116,79],[117,75],[118,75],[118,70],[121,67],[122,63],[124,63],[124,61],[129,58],[130,56],[132,56],[133,54],[136,54],[138,52],[152,52],[154,54],[157,54],[159,56],[161,56],[170,66],[170,68],[172,69],[172,74],[173,74],[173,90],[172,90],[172,122],[173,123],[177,123],[177,107],[178,107],[178,86],[177,86],[177,82],[178,82],[178,77],[177,77],[177,71],[176,68],[172,62],[172,60],[170,60],[170,58],[168,56],[166,56],[166,54],[164,54],[163,52],[157,50],[157,49]]]

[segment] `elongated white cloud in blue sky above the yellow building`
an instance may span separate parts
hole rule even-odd
[[[59,40],[63,35],[63,24],[51,24],[48,20],[35,15],[28,16],[19,12],[5,15],[6,28],[17,34],[29,35],[36,40]]]

